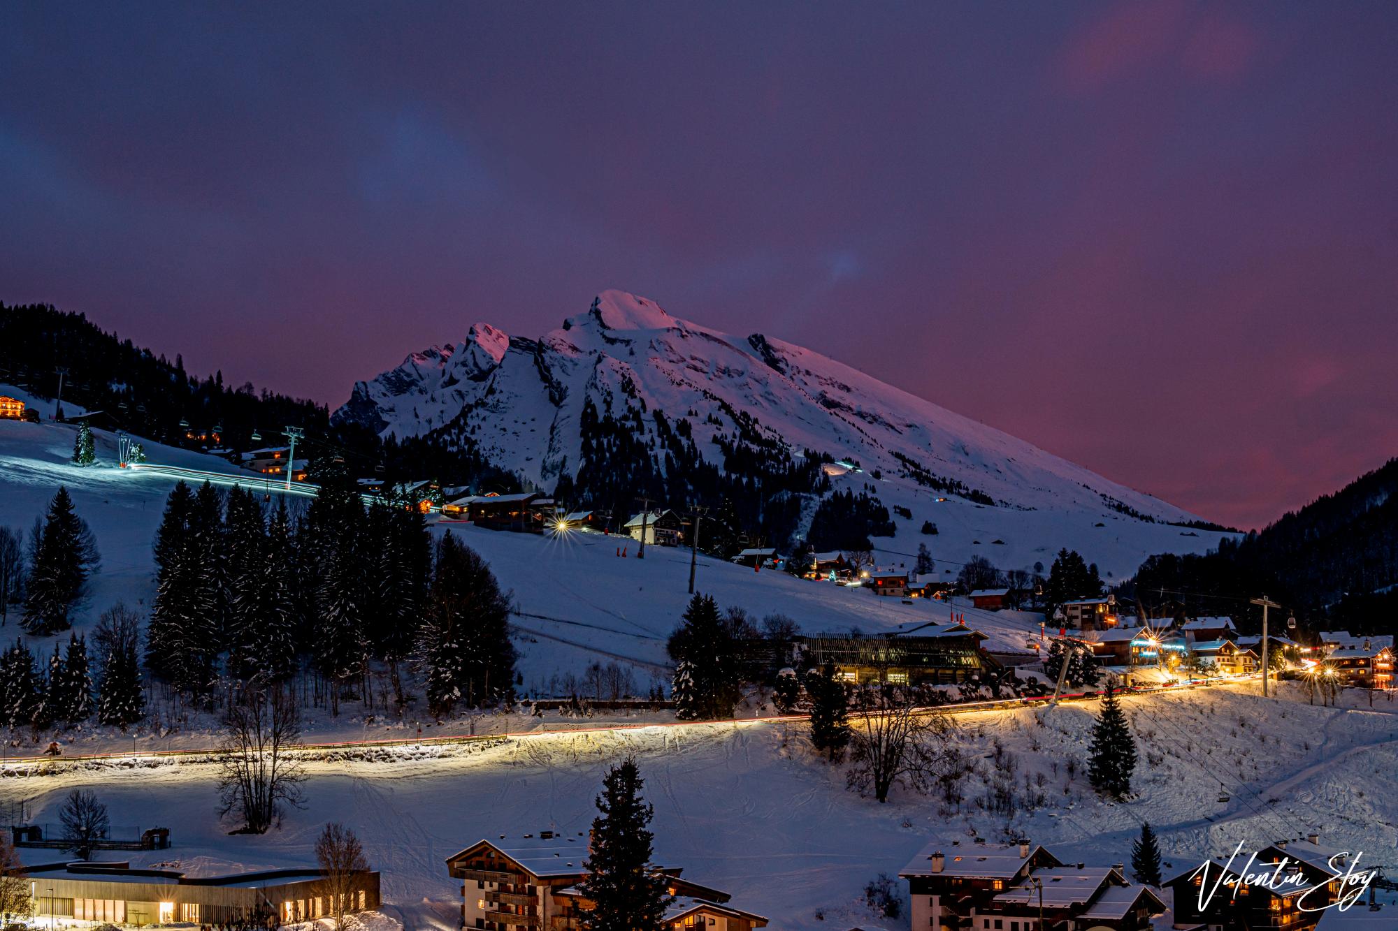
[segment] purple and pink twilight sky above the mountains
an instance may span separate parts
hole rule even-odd
[[[1398,4],[0,8],[0,299],[338,404],[603,288],[1215,520],[1398,452]]]

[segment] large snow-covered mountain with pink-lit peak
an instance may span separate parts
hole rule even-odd
[[[450,349],[356,383],[334,418],[400,439],[433,433],[526,486],[562,484],[577,503],[601,485],[621,495],[629,481],[660,482],[682,503],[700,493],[686,470],[714,468],[728,478],[699,479],[744,481],[754,507],[765,509],[763,481],[781,470],[808,474],[809,453],[830,464],[836,489],[877,495],[903,527],[956,520],[965,540],[942,535],[941,547],[955,542],[958,559],[995,547],[1007,568],[1051,562],[1079,533],[1102,538],[1121,523],[1131,528],[1113,534],[1111,548],[1131,554],[1123,568],[1148,552],[1216,542],[1209,531],[1180,541],[1172,524],[1197,520],[1180,507],[843,362],[774,335],[712,330],[625,291],[604,291],[540,338],[475,324]],[[600,424],[607,418],[611,425]],[[853,466],[840,471],[836,461]],[[745,478],[744,468],[766,471]],[[794,493],[814,498],[818,485]],[[814,500],[801,505],[797,533],[812,510]],[[1072,533],[1058,530],[1065,521]],[[1145,537],[1158,542],[1141,549]],[[899,551],[917,542],[899,540]],[[1086,549],[1107,562],[1104,547]]]

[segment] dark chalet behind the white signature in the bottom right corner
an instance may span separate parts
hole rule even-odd
[[[1314,928],[1339,896],[1336,875],[1345,872],[1345,856],[1321,847],[1311,835],[1260,850],[1251,865],[1248,854],[1239,854],[1232,863],[1208,860],[1190,867],[1165,882],[1174,893],[1174,927]],[[1267,881],[1243,882],[1244,869]]]

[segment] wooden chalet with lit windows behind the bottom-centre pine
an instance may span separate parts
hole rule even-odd
[[[447,872],[461,881],[461,927],[487,931],[548,928],[573,931],[591,903],[577,883],[587,876],[587,837],[541,830],[523,837],[481,840],[447,858]],[[751,931],[762,916],[730,904],[719,889],[681,878],[678,867],[657,867],[677,900],[665,911],[675,931],[714,928]]]

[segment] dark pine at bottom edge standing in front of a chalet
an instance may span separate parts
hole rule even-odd
[[[591,843],[579,890],[593,902],[580,916],[583,931],[661,931],[672,899],[665,876],[651,864],[651,805],[642,800],[644,780],[636,760],[612,766],[597,797]]]

